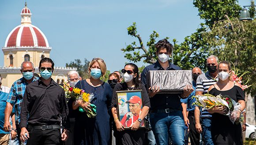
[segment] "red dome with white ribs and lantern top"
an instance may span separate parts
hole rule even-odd
[[[30,9],[26,7],[26,4],[20,15],[21,25],[11,30],[4,47],[49,47],[45,34],[38,27],[31,24],[32,14]]]

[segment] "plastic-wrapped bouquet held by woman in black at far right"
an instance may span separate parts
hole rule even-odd
[[[211,94],[204,94],[202,96],[196,95],[192,98],[196,98],[196,101],[192,103],[192,105],[197,105],[202,107],[203,110],[211,109],[216,105],[223,105],[226,106],[226,116],[229,116],[230,121],[232,123],[243,123],[244,116],[240,113],[238,116],[239,109],[241,105],[230,98],[228,95],[222,96],[221,94],[217,95],[216,97]],[[237,120],[237,118],[239,118]]]

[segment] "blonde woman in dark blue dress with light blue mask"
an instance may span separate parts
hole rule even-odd
[[[86,93],[94,94],[91,104],[96,105],[97,115],[88,118],[86,112],[79,112],[79,106],[88,108],[89,103],[75,101],[72,109],[76,110],[74,144],[75,145],[109,145],[109,107],[112,100],[112,90],[108,83],[100,80],[106,73],[105,62],[101,58],[94,58],[89,64],[90,78],[79,81],[75,87],[83,89]],[[89,105],[90,106],[90,105]]]

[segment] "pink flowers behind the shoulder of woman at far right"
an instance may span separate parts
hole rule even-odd
[[[233,63],[232,63],[233,64]],[[231,81],[233,81],[234,83],[239,83],[241,85],[241,88],[243,90],[247,89],[248,87],[252,86],[252,85],[246,85],[249,81],[249,79],[246,81],[246,83],[243,83],[242,81],[242,76],[244,76],[246,73],[250,73],[249,71],[245,71],[243,74],[238,73],[238,69],[235,67],[235,65],[233,64],[233,69],[232,70],[232,76],[231,76]],[[240,75],[240,76],[239,76]]]

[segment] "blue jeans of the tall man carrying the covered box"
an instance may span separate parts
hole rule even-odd
[[[184,145],[184,119],[181,111],[150,113],[150,123],[158,145]]]

